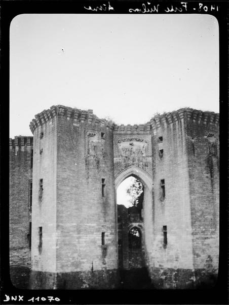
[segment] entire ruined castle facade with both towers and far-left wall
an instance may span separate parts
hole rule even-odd
[[[214,286],[218,114],[184,108],[156,115],[144,125],[118,126],[92,110],[58,105],[35,115],[30,129],[33,137],[10,139],[15,286],[134,289],[140,285],[137,278],[142,289]],[[144,188],[142,221],[123,220],[118,230],[116,190],[130,175]],[[138,226],[143,245],[137,268],[128,263],[127,254],[124,262],[119,255],[124,248],[128,253],[133,226]],[[118,239],[125,245],[118,247]]]

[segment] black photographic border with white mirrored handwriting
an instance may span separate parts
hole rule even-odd
[[[113,11],[89,11],[84,7],[108,4],[108,1],[2,0],[1,2],[1,304],[227,304],[228,302],[228,1],[187,1],[187,11],[168,14],[210,14],[219,23],[219,104],[220,104],[220,247],[217,285],[200,290],[22,290],[15,288],[9,272],[9,34],[12,19],[19,14],[75,13],[128,14],[130,8],[142,7],[146,1],[115,0]],[[218,11],[198,12],[199,3]],[[180,7],[178,1],[151,1],[166,7]],[[133,13],[132,13],[133,14]],[[139,14],[135,12],[134,14]],[[145,14],[148,14],[147,12]],[[152,12],[150,14],[159,14]],[[187,93],[188,94],[188,93]],[[26,111],[26,109],[25,109]],[[23,301],[6,302],[5,294],[22,296]],[[31,297],[58,297],[60,301],[28,301]]]

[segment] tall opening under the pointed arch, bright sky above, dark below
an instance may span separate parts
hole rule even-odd
[[[144,186],[135,176],[122,184],[127,196],[125,188],[122,196],[117,189],[120,288],[152,289],[144,254]]]

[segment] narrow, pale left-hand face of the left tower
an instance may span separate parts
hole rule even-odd
[[[52,111],[35,115],[32,185],[32,289],[55,288],[57,119]]]

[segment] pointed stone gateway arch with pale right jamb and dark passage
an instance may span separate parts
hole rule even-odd
[[[152,178],[144,170],[135,166],[127,168],[119,173],[115,179],[116,199],[118,187],[130,176],[141,182],[143,200],[140,207],[126,208],[123,205],[116,204],[119,269],[124,286],[126,285],[125,288],[130,288],[129,286],[140,288],[141,283],[143,285],[143,283],[150,281],[146,270],[146,262],[150,262],[152,253]],[[137,280],[138,278],[141,278],[141,282]]]

